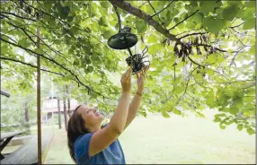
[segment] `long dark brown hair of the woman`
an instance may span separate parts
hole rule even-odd
[[[68,124],[67,124],[67,145],[68,145],[70,156],[75,162],[76,162],[75,153],[74,153],[75,140],[78,136],[89,133],[89,131],[84,127],[83,117],[77,112],[77,109],[79,109],[81,106],[82,105],[78,106],[74,110],[74,113],[69,118]]]

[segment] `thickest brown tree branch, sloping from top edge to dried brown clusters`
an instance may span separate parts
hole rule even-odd
[[[179,39],[177,39],[173,34],[171,34],[168,30],[165,30],[158,22],[156,22],[151,15],[144,13],[143,11],[141,11],[140,9],[138,9],[137,7],[134,7],[133,5],[129,4],[128,2],[124,2],[123,0],[120,1],[115,1],[115,0],[109,0],[111,2],[111,4],[114,4],[118,7],[120,7],[121,9],[123,9],[124,11],[131,13],[135,16],[137,16],[138,18],[146,21],[149,25],[153,26],[155,28],[155,30],[157,30],[158,32],[164,34],[164,36],[168,39],[171,39],[173,41],[176,41],[178,44],[182,44],[182,41],[180,41]]]

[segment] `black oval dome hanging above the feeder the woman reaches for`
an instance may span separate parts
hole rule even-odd
[[[108,45],[114,49],[131,48],[137,44],[137,36],[128,32],[121,32],[108,39]]]

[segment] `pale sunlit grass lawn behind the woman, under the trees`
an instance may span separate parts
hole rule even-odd
[[[73,163],[66,147],[66,132],[55,126],[45,163]],[[127,163],[255,163],[255,135],[236,126],[221,130],[207,118],[137,117],[120,135]]]

